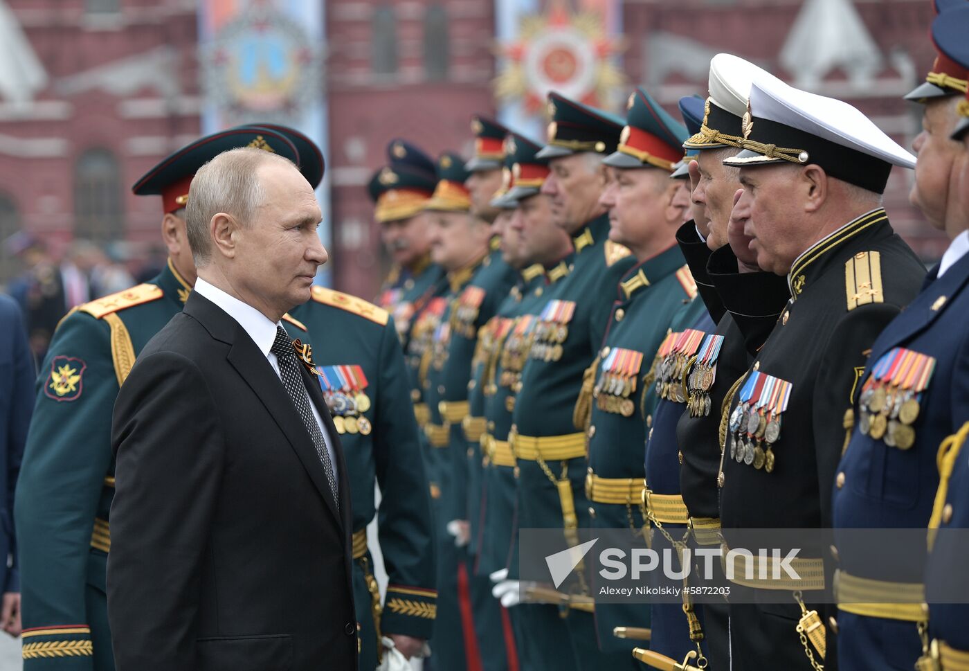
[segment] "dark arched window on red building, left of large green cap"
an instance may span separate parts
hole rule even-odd
[[[124,234],[121,169],[108,149],[88,149],[74,174],[75,237],[94,242],[118,240]]]

